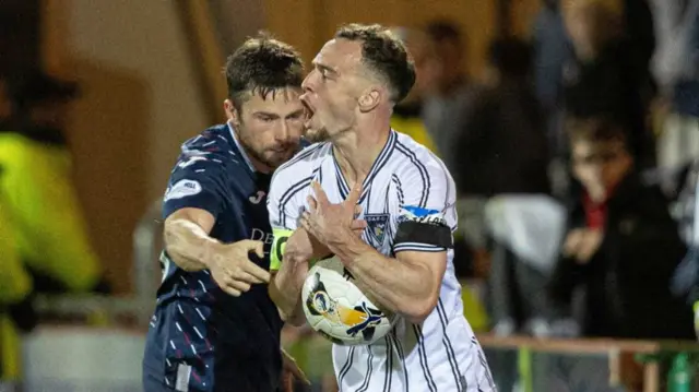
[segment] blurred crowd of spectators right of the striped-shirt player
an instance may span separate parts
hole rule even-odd
[[[548,0],[532,27],[484,78],[455,24],[396,28],[418,76],[394,127],[454,177],[458,271],[488,280],[498,334],[692,338],[692,284],[671,286],[694,254],[699,1]]]

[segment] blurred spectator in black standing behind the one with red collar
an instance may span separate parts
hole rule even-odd
[[[625,13],[620,0],[566,2],[564,21],[574,56],[564,69],[564,100],[571,116],[604,116],[624,124],[636,164],[649,167],[654,161],[652,134],[647,126],[653,92],[647,52],[652,41],[638,41],[636,37],[648,36],[648,32],[640,31],[642,26],[651,29],[652,37],[652,24],[625,24],[628,12],[643,15],[639,10],[648,8],[642,0],[631,3]],[[625,29],[630,26],[633,31]]]

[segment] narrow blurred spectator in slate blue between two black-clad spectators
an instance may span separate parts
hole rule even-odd
[[[560,132],[562,70],[570,56],[570,44],[560,13],[560,0],[544,0],[534,21],[532,41],[536,97],[546,116],[552,156],[564,156],[568,146]]]

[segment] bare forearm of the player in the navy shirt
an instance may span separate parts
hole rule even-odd
[[[188,219],[176,219],[165,226],[167,254],[185,271],[208,269],[213,248],[220,245],[199,225]]]

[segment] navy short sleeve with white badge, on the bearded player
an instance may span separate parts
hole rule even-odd
[[[232,200],[227,178],[224,161],[216,155],[181,157],[163,198],[163,218],[187,207],[204,210],[217,217],[226,200]]]

